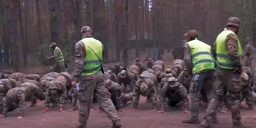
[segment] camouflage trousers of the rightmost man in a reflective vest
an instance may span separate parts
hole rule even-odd
[[[228,107],[232,114],[233,125],[241,124],[239,104],[241,102],[241,74],[233,71],[216,70],[215,94],[208,104],[204,119],[212,118],[216,113],[217,105],[227,96]]]

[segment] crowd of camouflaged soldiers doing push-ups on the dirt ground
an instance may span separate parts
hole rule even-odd
[[[161,108],[158,113],[165,112],[166,104],[182,105],[182,112],[189,113],[190,98],[187,90],[189,90],[192,77],[188,74],[182,59],[175,59],[172,68],[167,68],[165,71],[162,61],[153,62],[151,58],[148,59],[146,68],[137,58],[129,69],[117,63],[110,69],[104,67],[104,71],[106,88],[113,104],[120,112],[125,111],[124,104],[129,101],[133,102],[132,110],[137,111],[140,95],[142,95],[146,97],[146,102],[152,103],[152,111],[157,111],[157,97],[159,97]],[[249,109],[253,109],[256,97],[256,79],[253,75],[255,73],[256,68],[252,71],[250,67],[243,67],[242,99],[245,98]],[[19,108],[20,116],[17,119],[21,119],[24,116],[25,102],[30,102],[32,107],[38,99],[45,101],[44,112],[49,111],[48,107],[56,105],[59,105],[59,111],[64,111],[64,104],[68,102],[72,104],[72,108],[68,111],[76,108],[78,93],[76,88],[71,88],[73,78],[67,72],[51,72],[43,77],[37,74],[25,75],[20,72],[10,75],[1,73],[0,77],[0,118],[6,117],[7,112]],[[130,87],[130,93],[124,94],[127,85]],[[201,95],[201,101],[208,102],[208,94],[202,91]],[[93,99],[92,97],[92,102]],[[226,113],[225,98],[219,107],[221,113]],[[99,112],[102,112],[101,107]]]

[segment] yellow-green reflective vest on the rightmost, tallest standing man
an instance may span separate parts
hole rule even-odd
[[[224,69],[235,69],[236,67],[233,66],[231,60],[228,56],[227,50],[227,36],[229,34],[235,34],[233,31],[224,30],[222,31],[216,39],[216,64]],[[240,45],[240,41],[237,39],[237,56],[242,55],[242,47]]]

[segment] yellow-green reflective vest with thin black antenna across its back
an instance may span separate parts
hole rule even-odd
[[[103,52],[102,43],[94,38],[84,38],[82,39],[82,41],[84,42],[84,46],[86,49],[82,76],[89,76],[101,71],[100,63],[102,63]]]

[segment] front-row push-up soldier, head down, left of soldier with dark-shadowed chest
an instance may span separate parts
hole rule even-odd
[[[140,95],[146,96],[152,103],[152,111],[157,111],[157,95],[154,82],[149,78],[144,78],[142,84],[136,84],[133,93],[133,111],[139,107]]]

